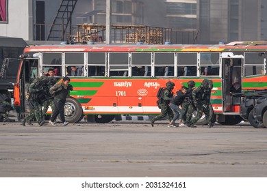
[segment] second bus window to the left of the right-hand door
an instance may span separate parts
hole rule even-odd
[[[197,53],[177,53],[178,76],[196,76]]]

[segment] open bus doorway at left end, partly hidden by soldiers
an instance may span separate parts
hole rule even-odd
[[[29,112],[29,85],[34,81],[34,78],[40,77],[38,68],[38,59],[24,59],[20,75],[20,95],[21,95],[21,112]]]

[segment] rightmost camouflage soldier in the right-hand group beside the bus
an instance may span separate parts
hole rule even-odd
[[[194,123],[201,119],[202,113],[204,112],[205,118],[207,119],[208,123],[207,126],[211,128],[214,126],[212,123],[212,116],[209,115],[209,98],[210,98],[210,91],[209,91],[209,83],[207,80],[203,80],[201,86],[197,87],[192,91],[192,98],[194,100],[194,105],[196,106],[196,117],[188,123],[188,126],[191,128],[196,128]]]

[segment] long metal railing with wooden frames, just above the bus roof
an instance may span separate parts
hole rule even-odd
[[[49,30],[52,25],[35,24],[34,40],[47,41]],[[54,25],[53,35],[49,40],[68,42],[104,42],[105,25]],[[86,28],[89,27],[90,29]],[[63,29],[67,29],[64,33]],[[112,25],[110,39],[112,43],[136,43],[145,44],[197,44],[199,42],[199,32],[196,29],[173,30],[162,27]]]

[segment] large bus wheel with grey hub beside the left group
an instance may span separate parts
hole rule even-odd
[[[78,123],[82,119],[81,116],[83,116],[81,104],[75,98],[66,98],[64,114],[65,120],[69,123]],[[60,119],[60,115],[58,115],[58,118]]]

